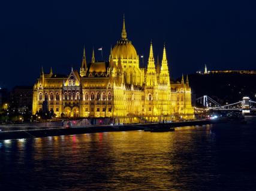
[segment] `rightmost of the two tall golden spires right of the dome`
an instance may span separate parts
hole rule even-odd
[[[162,53],[162,64],[161,64],[161,70],[159,74],[159,83],[170,86],[170,74],[168,69],[165,45],[164,45],[164,51]]]

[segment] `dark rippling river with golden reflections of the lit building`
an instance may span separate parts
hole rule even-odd
[[[248,124],[0,141],[0,190],[256,190]]]

